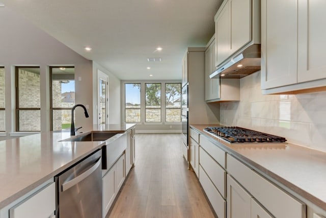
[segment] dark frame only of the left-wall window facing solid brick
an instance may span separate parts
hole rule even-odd
[[[16,90],[16,132],[40,132],[41,126],[39,130],[19,130],[19,111],[25,111],[25,110],[34,110],[34,111],[41,111],[41,108],[20,108],[19,107],[19,68],[39,68],[40,66],[15,66],[15,90]],[[41,73],[40,73],[41,75]],[[40,83],[41,87],[41,83]],[[41,90],[41,89],[40,89]],[[40,93],[41,94],[41,93]],[[40,117],[40,123],[41,123],[41,117]]]

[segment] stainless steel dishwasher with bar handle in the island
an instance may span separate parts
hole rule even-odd
[[[101,150],[55,177],[58,218],[102,218]]]

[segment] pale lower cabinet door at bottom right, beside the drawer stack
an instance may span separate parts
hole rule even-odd
[[[251,218],[251,196],[227,175],[227,217]]]

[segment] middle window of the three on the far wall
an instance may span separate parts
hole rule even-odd
[[[145,121],[161,122],[161,84],[145,83]]]

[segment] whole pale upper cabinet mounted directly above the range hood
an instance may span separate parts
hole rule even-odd
[[[215,66],[249,43],[260,44],[260,1],[225,0],[215,20]]]

